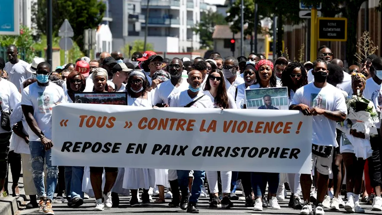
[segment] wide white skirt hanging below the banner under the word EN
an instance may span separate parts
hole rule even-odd
[[[155,187],[155,170],[126,167],[122,187],[130,190],[149,190],[150,187]]]

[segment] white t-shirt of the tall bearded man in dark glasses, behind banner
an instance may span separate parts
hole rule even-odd
[[[185,91],[188,89],[188,82],[186,78],[181,78],[182,81],[179,86],[176,88],[171,80],[167,80],[163,83],[160,83],[157,88],[155,88],[154,96],[152,99],[152,104],[169,104],[168,100],[170,97],[173,97],[175,94],[181,91]]]

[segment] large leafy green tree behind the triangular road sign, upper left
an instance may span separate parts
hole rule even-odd
[[[102,21],[106,5],[98,0],[53,0],[52,2],[53,37],[58,36],[58,29],[68,19],[74,31],[74,42],[83,51],[85,29],[95,29]],[[37,0],[32,5],[32,22],[37,32],[47,33],[47,1]]]

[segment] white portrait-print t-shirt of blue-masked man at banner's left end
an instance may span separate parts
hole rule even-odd
[[[66,102],[63,89],[52,82],[48,86],[39,86],[36,81],[26,87],[21,95],[21,105],[33,107],[37,125],[45,137],[52,139],[52,108],[57,102]],[[31,141],[40,140],[30,128],[28,134]]]

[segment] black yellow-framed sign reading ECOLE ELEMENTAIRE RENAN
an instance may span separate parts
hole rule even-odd
[[[317,18],[317,40],[319,41],[346,41],[348,32],[348,19],[346,18]]]

